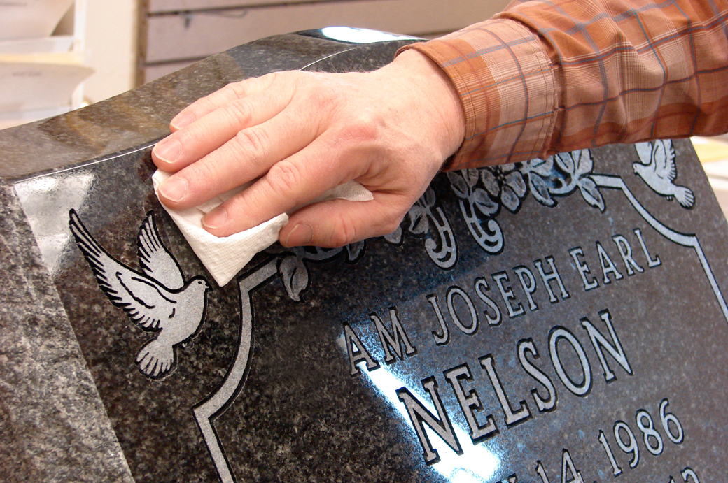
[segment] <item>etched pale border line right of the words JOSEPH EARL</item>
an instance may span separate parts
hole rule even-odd
[[[657,230],[666,239],[674,241],[676,244],[682,245],[683,247],[692,247],[695,249],[695,252],[697,253],[697,258],[700,259],[700,264],[703,266],[703,270],[705,271],[705,276],[708,277],[708,282],[710,282],[711,287],[713,288],[713,294],[716,295],[718,303],[721,306],[721,311],[723,311],[723,316],[725,317],[726,322],[728,322],[728,306],[726,306],[726,301],[723,298],[721,289],[720,287],[718,287],[716,277],[713,276],[713,270],[708,263],[708,259],[705,258],[705,253],[703,253],[703,247],[700,247],[700,240],[697,239],[697,235],[687,235],[685,233],[679,233],[677,231],[674,231],[672,228],[668,228],[667,226],[663,225],[660,220],[657,220],[657,218],[650,215],[649,212],[640,204],[640,202],[637,201],[635,196],[632,194],[632,191],[630,191],[627,185],[625,185],[625,182],[624,180],[622,180],[621,177],[610,175],[591,175],[591,178],[598,186],[601,186],[603,188],[618,189],[625,193],[625,196],[627,196],[627,199],[630,201],[632,206],[635,207],[637,212],[646,220],[647,223],[649,223],[650,226],[652,226],[652,228]]]

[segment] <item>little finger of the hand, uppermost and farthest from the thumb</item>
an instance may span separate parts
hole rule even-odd
[[[264,92],[272,86],[276,79],[277,73],[270,73],[266,76],[227,84],[222,89],[218,89],[210,95],[199,98],[194,103],[191,103],[180,111],[177,116],[170,121],[170,129],[172,132],[176,132],[185,126],[192,124],[194,121],[197,121],[197,119],[202,119],[203,116],[215,111],[215,109],[221,108],[234,100],[241,99],[242,97],[258,92]]]

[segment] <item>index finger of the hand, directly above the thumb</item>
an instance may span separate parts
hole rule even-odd
[[[328,137],[319,137],[303,151],[273,164],[247,190],[202,218],[202,225],[215,236],[248,230],[307,204],[347,180],[361,175],[362,163],[352,156],[347,164]],[[223,162],[222,160],[219,162]]]

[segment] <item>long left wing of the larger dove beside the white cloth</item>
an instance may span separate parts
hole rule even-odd
[[[109,255],[91,236],[74,209],[71,209],[68,227],[100,289],[132,322],[145,330],[156,330],[174,316],[176,303],[167,291]]]

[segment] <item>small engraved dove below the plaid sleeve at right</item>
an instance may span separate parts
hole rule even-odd
[[[695,195],[685,186],[673,183],[678,175],[675,167],[675,149],[671,140],[657,140],[654,143],[637,143],[635,145],[639,163],[633,163],[632,169],[655,192],[668,199],[676,199],[681,207],[692,208]]]

